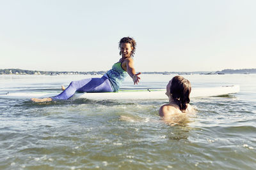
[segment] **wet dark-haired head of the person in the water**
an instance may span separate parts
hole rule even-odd
[[[188,107],[188,103],[190,102],[190,82],[182,76],[175,76],[169,81],[166,88],[167,96],[172,97],[173,101],[179,105],[180,110],[185,112]]]

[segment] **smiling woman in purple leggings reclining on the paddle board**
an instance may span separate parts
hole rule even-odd
[[[47,98],[32,98],[34,102],[66,100],[72,97],[75,92],[116,92],[120,89],[122,82],[127,74],[131,76],[134,85],[140,82],[141,73],[136,73],[134,69],[133,56],[136,50],[136,41],[130,37],[124,37],[119,41],[120,55],[122,56],[101,78],[86,78],[79,81],[72,81],[65,89],[61,87],[63,92],[57,96]]]

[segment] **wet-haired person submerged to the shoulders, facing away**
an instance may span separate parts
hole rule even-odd
[[[177,115],[180,118],[182,113],[194,111],[189,104],[190,92],[191,84],[186,78],[182,76],[173,77],[166,86],[166,96],[169,98],[169,103],[161,106],[159,116],[163,117],[164,121],[170,122]]]

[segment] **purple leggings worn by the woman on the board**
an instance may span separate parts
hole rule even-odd
[[[113,92],[113,89],[106,76],[102,76],[102,78],[86,78],[79,81],[72,81],[66,90],[51,98],[52,100],[66,100],[76,92]]]

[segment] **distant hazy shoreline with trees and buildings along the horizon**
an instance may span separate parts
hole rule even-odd
[[[105,74],[107,71],[33,71],[26,69],[0,69],[0,74]],[[256,74],[256,69],[223,69],[222,71],[148,71],[142,74]]]

